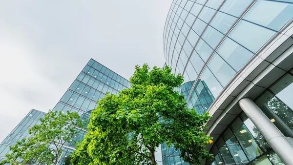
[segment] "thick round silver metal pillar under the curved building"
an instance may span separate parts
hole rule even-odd
[[[270,119],[249,98],[238,104],[285,165],[293,165],[293,146]]]

